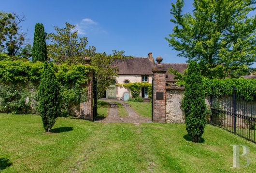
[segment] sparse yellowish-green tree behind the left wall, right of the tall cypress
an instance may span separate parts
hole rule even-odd
[[[46,38],[51,41],[47,45],[48,57],[56,63],[77,64],[85,63],[85,56],[91,57],[95,48],[89,46],[87,49],[87,37],[78,37],[75,25],[66,23],[66,27],[54,26],[56,34],[50,33]]]

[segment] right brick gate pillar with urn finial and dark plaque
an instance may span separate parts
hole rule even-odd
[[[161,57],[157,57],[158,64],[153,68],[153,122],[165,123],[165,75],[167,70],[163,68]]]

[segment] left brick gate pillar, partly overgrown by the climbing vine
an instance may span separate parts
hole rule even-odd
[[[93,74],[88,74],[87,85],[88,99],[80,104],[80,118],[93,121]]]

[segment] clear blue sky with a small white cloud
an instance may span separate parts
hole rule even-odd
[[[28,29],[32,44],[34,27],[42,23],[47,33],[65,22],[76,25],[80,37],[97,52],[124,50],[125,55],[161,56],[163,62],[185,62],[169,47],[172,32],[171,2],[176,0],[0,0],[0,10],[24,14],[22,29]],[[192,0],[185,0],[184,12],[192,12]],[[256,64],[253,65],[256,67]]]

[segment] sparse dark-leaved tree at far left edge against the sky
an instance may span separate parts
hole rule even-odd
[[[0,52],[15,56],[25,45],[27,33],[20,26],[24,21],[25,16],[0,12]]]

